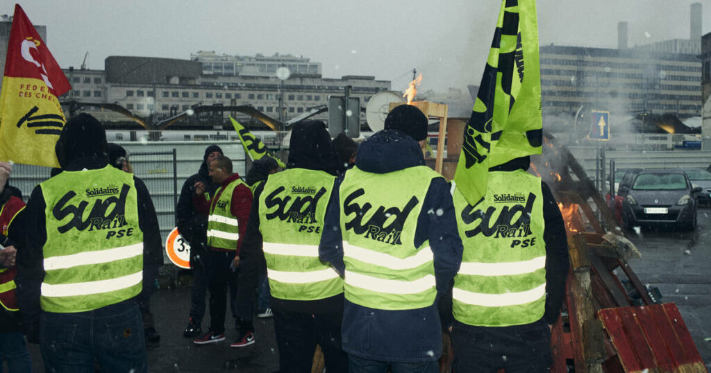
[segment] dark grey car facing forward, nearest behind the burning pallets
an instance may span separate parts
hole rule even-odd
[[[623,180],[620,190],[620,197],[624,198],[622,218],[627,229],[639,225],[695,229],[693,194],[702,189],[693,188],[684,171],[640,171]]]

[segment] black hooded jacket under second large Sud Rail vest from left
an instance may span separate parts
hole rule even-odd
[[[289,142],[289,161],[287,168],[306,168],[308,170],[326,171],[336,175],[338,158],[331,148],[331,138],[325,131],[326,126],[322,121],[300,122],[292,130],[292,139]],[[250,220],[247,222],[245,240],[242,242],[240,252],[240,281],[245,279],[245,286],[240,289],[253,289],[257,286],[257,274],[260,268],[266,266],[264,250],[262,249],[262,232],[260,232],[260,195],[264,190],[264,183],[255,190],[255,203],[252,203]],[[244,276],[244,277],[242,277]],[[286,299],[271,298],[272,309],[286,310],[303,313],[336,312],[343,309],[343,293],[318,301],[291,301]]]

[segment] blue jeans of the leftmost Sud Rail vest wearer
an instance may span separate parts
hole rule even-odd
[[[148,372],[141,311],[135,301],[80,313],[43,313],[40,349],[47,372]]]

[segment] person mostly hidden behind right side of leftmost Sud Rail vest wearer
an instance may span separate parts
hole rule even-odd
[[[126,149],[119,144],[109,143],[109,165],[127,173],[133,173],[133,167],[129,163],[129,155]],[[137,178],[136,176],[134,176]],[[153,252],[153,251],[151,251]],[[162,253],[162,249],[161,249]],[[151,260],[151,264],[145,266],[143,274],[143,289],[137,300],[141,308],[143,318],[144,336],[146,342],[157,343],[161,340],[161,335],[156,331],[156,323],[151,312],[151,296],[156,291],[156,281],[158,271],[163,264],[163,256]]]

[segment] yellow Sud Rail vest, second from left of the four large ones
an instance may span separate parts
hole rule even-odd
[[[274,298],[315,301],[343,293],[343,279],[319,260],[326,205],[335,177],[289,168],[269,175],[260,194],[260,231]]]

